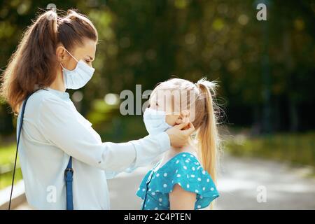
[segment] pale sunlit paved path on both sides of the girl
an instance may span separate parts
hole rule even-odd
[[[111,209],[139,209],[135,196],[142,177],[150,167],[109,180]],[[221,162],[216,209],[315,209],[315,179],[308,170],[285,163],[225,156]],[[259,187],[262,186],[262,187]],[[267,202],[257,201],[259,189],[266,190]],[[29,209],[27,203],[18,209]]]

